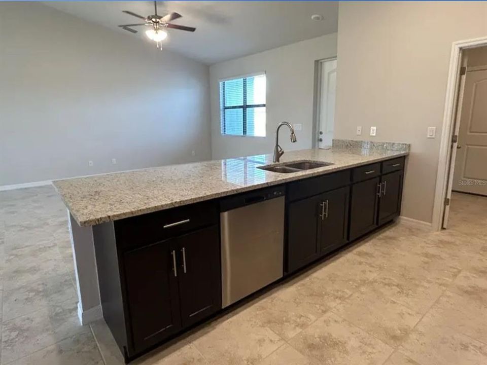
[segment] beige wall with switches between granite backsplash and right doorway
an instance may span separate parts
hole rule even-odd
[[[411,143],[407,217],[432,221],[451,43],[485,35],[487,2],[340,2],[335,138]]]

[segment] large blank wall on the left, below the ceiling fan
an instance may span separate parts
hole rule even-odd
[[[210,159],[208,77],[129,33],[1,3],[0,186]]]

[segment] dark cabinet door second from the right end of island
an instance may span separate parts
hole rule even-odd
[[[352,185],[349,240],[377,227],[379,177]]]

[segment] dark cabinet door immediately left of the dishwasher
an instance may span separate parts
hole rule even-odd
[[[217,226],[177,238],[179,294],[183,326],[221,308],[220,241]]]

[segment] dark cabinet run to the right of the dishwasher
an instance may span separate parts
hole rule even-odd
[[[397,217],[403,171],[404,158],[399,158],[338,172],[329,175],[327,181],[314,178],[291,186],[287,202],[287,273]],[[329,191],[316,194],[320,187]],[[316,195],[306,197],[303,191]]]

